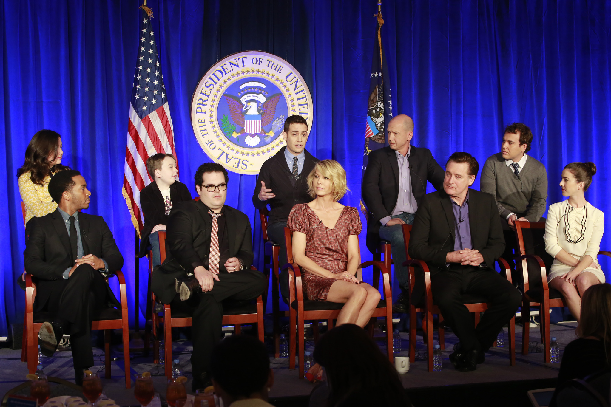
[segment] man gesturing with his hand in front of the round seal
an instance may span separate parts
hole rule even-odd
[[[263,209],[269,204],[268,237],[280,245],[280,266],[287,262],[287,244],[284,240],[284,227],[288,214],[296,204],[312,201],[307,192],[307,176],[318,162],[316,157],[305,149],[308,128],[302,116],[289,116],[284,122],[282,137],[287,146],[269,157],[259,171],[252,204]],[[288,274],[280,275],[280,292],[288,303]]]

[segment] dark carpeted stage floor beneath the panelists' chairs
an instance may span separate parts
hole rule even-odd
[[[571,340],[576,339],[576,322],[558,323],[551,325],[551,334],[558,338],[561,352]],[[380,347],[384,347],[383,333],[376,332],[376,340]],[[403,351],[395,356],[408,356],[408,334],[401,333]],[[437,339],[437,331],[435,331]],[[417,360],[411,364],[408,373],[401,376],[406,391],[412,398],[416,407],[419,406],[529,406],[526,392],[529,389],[538,389],[555,386],[559,363],[545,364],[543,362],[543,349],[540,343],[538,328],[531,328],[529,342],[531,344],[528,355],[521,354],[522,328],[516,326],[516,366],[509,366],[509,351],[507,343],[507,328],[505,328],[505,347],[491,348],[486,353],[486,362],[478,366],[475,372],[457,372],[448,359],[452,353],[453,345],[457,342],[453,333],[446,331],[443,370],[441,372],[428,372],[426,361],[423,359],[425,348],[422,336],[417,338]],[[269,340],[269,339],[268,339]],[[313,342],[307,342],[312,347]],[[183,371],[188,376],[187,388],[191,388],[191,343],[187,340],[173,342],[174,358],[178,358]],[[271,342],[269,342],[271,345]],[[310,349],[311,350],[311,349]],[[119,357],[112,362],[112,378],[102,379],[106,395],[122,406],[137,405],[132,389],[125,389],[124,368],[122,352],[114,347],[113,356]],[[100,370],[103,377],[103,351],[94,349],[96,366],[91,370]],[[419,356],[422,355],[422,358]],[[358,357],[357,355],[355,357]],[[0,348],[0,395],[5,394],[13,387],[25,380],[26,364],[21,362],[21,351],[9,348]],[[276,406],[307,406],[307,400],[314,384],[307,380],[299,380],[296,370],[288,369],[288,360],[271,359],[276,383],[271,389],[270,397]],[[54,358],[43,358],[43,369],[49,376],[74,381],[74,371],[70,351],[60,351]],[[166,380],[163,368],[155,366],[152,356],[142,356],[141,353],[131,355],[131,373],[150,371],[155,382],[155,389],[163,398],[165,395]]]

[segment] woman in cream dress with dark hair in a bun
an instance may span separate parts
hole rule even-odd
[[[566,165],[560,187],[568,200],[549,206],[545,224],[545,250],[554,257],[547,281],[562,293],[577,321],[581,295],[588,287],[605,282],[596,259],[604,230],[604,214],[584,196],[595,173],[593,162]]]

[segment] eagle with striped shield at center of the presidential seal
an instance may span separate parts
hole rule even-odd
[[[266,85],[261,82],[246,82],[240,85],[237,96],[223,95],[229,106],[229,115],[235,126],[241,128],[240,132],[233,131],[230,136],[245,135],[244,143],[251,147],[260,145],[262,139],[265,140],[265,144],[269,143],[284,124],[284,115],[274,120],[280,93],[269,96],[265,88]],[[272,124],[271,129],[266,132],[264,128],[269,124]],[[238,142],[240,142],[239,137]]]

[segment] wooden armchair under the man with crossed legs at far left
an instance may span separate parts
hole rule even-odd
[[[123,363],[125,367],[125,388],[131,387],[130,375],[130,326],[128,322],[127,290],[125,278],[120,270],[115,272],[119,279],[121,308],[107,308],[101,312],[100,320],[92,321],[92,331],[104,331],[104,371],[106,378],[111,378],[111,334],[112,330],[121,330],[123,335]],[[108,278],[106,279],[108,282]],[[23,324],[23,336],[26,339],[26,351],[22,352],[22,361],[27,362],[29,373],[36,371],[38,364],[38,331],[42,323],[51,319],[47,312],[34,313],[34,288],[32,276],[26,273],[26,315]]]

